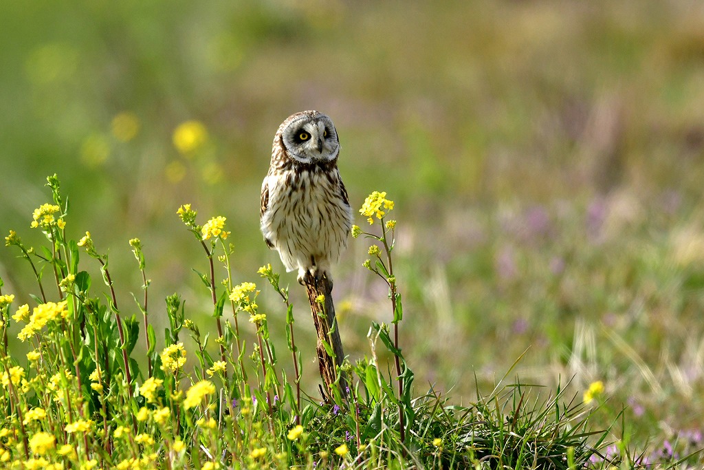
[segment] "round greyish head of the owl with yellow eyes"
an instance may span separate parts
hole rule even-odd
[[[289,158],[298,163],[333,161],[340,150],[332,120],[318,111],[289,116],[279,127],[277,137],[281,138]]]

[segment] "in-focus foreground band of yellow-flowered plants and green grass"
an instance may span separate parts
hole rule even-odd
[[[189,319],[177,293],[165,299],[169,327],[157,338],[142,242],[130,240],[144,280],[143,295],[133,296],[142,317],[124,318],[108,256],[88,232],[79,241],[67,236],[68,199],[56,175],[47,180],[53,204],[39,206],[31,223],[46,235],[46,246],[27,247],[13,230],[5,238],[37,280],[31,292],[0,290],[5,467],[696,468],[688,467],[699,458],[694,441],[676,443],[678,452],[643,455],[629,450],[626,439],[610,442],[609,430],[591,429],[590,414],[604,402],[599,382],[584,397],[565,396],[564,388],[541,397],[536,387],[507,381],[508,371],[489,395],[477,390],[468,406],[432,389],[414,395],[413,372],[398,344],[403,304],[391,259],[396,221],[388,218],[394,202],[384,192],[373,192],[360,209],[369,231],[355,225],[352,235],[374,241],[363,266],[389,288],[390,325],[372,322],[368,357],[345,360],[337,371],[338,383],[349,386],[320,401],[301,388],[304,361],[288,289],[270,265],[259,269],[285,312],[268,317],[258,307],[256,284],[234,283],[224,217],[199,225],[190,204],[177,211],[208,259],[208,273],[199,276],[210,294],[215,339]],[[81,254],[88,263],[79,262]],[[104,291],[86,271],[95,268]],[[15,295],[34,306],[16,307]],[[244,328],[256,332],[251,345]],[[270,328],[285,332],[291,364],[277,354]],[[147,352],[139,361],[138,341]],[[379,360],[389,354],[394,364]]]

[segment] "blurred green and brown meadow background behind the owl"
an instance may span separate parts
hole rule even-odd
[[[259,232],[260,183],[279,123],[318,109],[353,207],[373,190],[396,202],[419,392],[466,403],[528,350],[512,377],[546,395],[571,381],[577,400],[603,381],[596,423],[623,408],[634,445],[702,447],[700,2],[2,2],[0,18],[3,236],[42,238],[31,214],[57,173],[68,233],[109,250],[123,292],[142,285],[128,245],[142,240],[151,321],[178,292],[210,325],[191,271],[206,259],[176,210],[227,217],[234,282],[282,271]],[[367,247],[350,240],[334,271],[352,359],[370,320],[391,320]],[[0,277],[21,297],[33,281],[16,254],[0,250]],[[313,393],[306,297],[294,273],[282,282]],[[283,342],[285,311],[263,290]]]

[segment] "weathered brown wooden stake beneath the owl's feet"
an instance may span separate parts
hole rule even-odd
[[[306,287],[308,300],[310,301],[310,313],[313,314],[315,332],[318,333],[318,342],[315,349],[318,352],[318,366],[320,366],[320,377],[325,383],[325,393],[327,400],[331,400],[334,387],[337,387],[341,397],[347,397],[347,381],[344,372],[339,371],[337,366],[342,365],[345,354],[342,351],[339,325],[335,319],[335,306],[332,303],[332,283],[327,276],[315,278],[308,275],[303,278],[303,287]],[[320,295],[325,297],[325,302],[318,302]],[[332,330],[332,332],[331,332]],[[333,355],[328,354],[325,343],[332,349]],[[337,381],[337,374],[341,377]]]

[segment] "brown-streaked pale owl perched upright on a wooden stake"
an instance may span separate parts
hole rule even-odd
[[[337,169],[340,144],[332,120],[318,111],[289,116],[274,136],[262,183],[261,230],[287,271],[332,283],[331,264],[347,246],[352,209]]]

